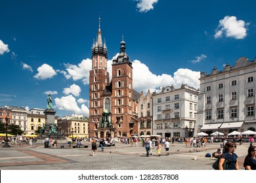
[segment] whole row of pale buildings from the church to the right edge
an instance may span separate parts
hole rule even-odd
[[[200,90],[186,84],[140,93],[139,135],[192,137],[200,131],[227,135],[256,129],[256,58],[239,58],[223,71],[200,73]]]

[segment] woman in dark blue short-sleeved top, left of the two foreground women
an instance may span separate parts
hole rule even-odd
[[[219,170],[223,170],[223,163],[225,159],[228,161],[227,170],[239,170],[238,166],[238,156],[234,153],[236,149],[236,144],[234,142],[226,142],[225,153],[221,155],[221,159],[219,160]]]

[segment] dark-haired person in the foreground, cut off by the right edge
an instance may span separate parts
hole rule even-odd
[[[256,146],[249,146],[248,154],[244,159],[245,170],[256,170]]]

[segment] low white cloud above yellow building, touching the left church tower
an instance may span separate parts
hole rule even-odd
[[[75,101],[75,97],[72,95],[68,95],[65,97],[61,97],[54,99],[56,107],[59,110],[68,110],[71,112],[75,112],[75,114],[84,114],[85,116],[89,115],[89,108],[84,104],[81,105],[81,108],[78,107],[77,102]]]

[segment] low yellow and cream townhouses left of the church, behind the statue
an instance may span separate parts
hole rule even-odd
[[[0,123],[19,125],[20,129],[28,135],[35,134],[38,127],[46,122],[45,110],[32,108],[26,110],[23,107],[0,107]],[[83,115],[70,115],[58,118],[54,116],[54,124],[63,135],[76,135],[81,137],[89,136],[89,119]]]

